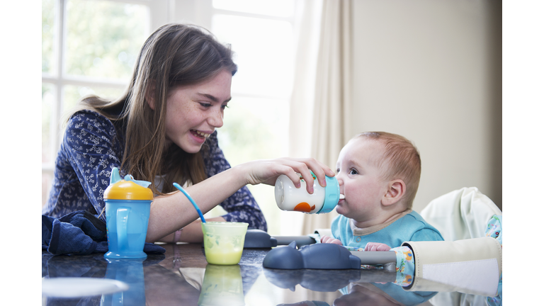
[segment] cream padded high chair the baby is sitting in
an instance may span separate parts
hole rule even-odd
[[[433,306],[487,305],[486,298],[497,293],[502,275],[502,246],[485,235],[493,215],[502,212],[475,187],[432,200],[421,216],[445,241],[404,242],[417,259],[416,278],[409,290],[441,291],[429,300]]]

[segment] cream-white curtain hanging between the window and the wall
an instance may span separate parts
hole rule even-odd
[[[314,157],[333,170],[351,138],[351,1],[305,1],[290,103],[290,156]],[[299,215],[300,234],[311,234],[337,214]]]

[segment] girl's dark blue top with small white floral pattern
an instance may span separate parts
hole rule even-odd
[[[68,121],[55,160],[55,181],[42,215],[62,217],[76,210],[97,216],[104,208],[103,193],[110,183],[111,169],[119,167],[124,135],[113,123],[94,111],[79,111]],[[217,131],[207,140],[210,147],[204,164],[208,177],[230,168],[217,142]],[[149,180],[148,180],[149,181]],[[220,203],[227,221],[247,222],[249,228],[266,231],[266,220],[247,186]],[[101,219],[105,220],[105,214]]]

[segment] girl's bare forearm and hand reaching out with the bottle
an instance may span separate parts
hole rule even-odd
[[[334,176],[329,167],[315,159],[267,159],[239,164],[187,187],[186,191],[205,213],[247,184],[266,183],[273,186],[281,174],[288,176],[295,186],[300,186],[299,174],[305,181],[312,180],[310,169],[322,186],[325,185],[325,175]],[[313,193],[313,186],[307,185],[307,191]],[[183,193],[176,191],[166,196],[158,196],[151,205],[146,241],[159,241],[197,219],[198,213]],[[183,231],[186,229],[191,227],[184,228]]]

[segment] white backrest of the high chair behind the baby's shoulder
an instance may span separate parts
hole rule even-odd
[[[421,210],[421,217],[446,241],[485,237],[487,222],[493,215],[502,215],[502,211],[476,187],[446,193]]]

